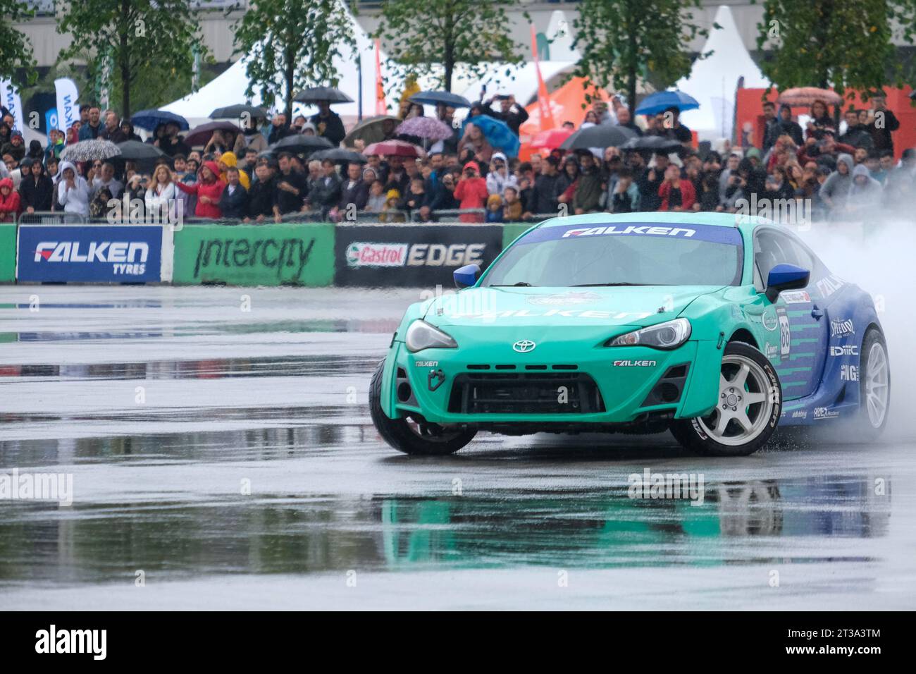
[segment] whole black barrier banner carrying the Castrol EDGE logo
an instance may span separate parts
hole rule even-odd
[[[453,271],[486,269],[502,243],[498,225],[339,225],[334,284],[452,287]]]

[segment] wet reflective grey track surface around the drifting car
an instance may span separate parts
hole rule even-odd
[[[73,485],[0,500],[0,608],[916,605],[900,429],[746,459],[667,433],[399,455],[366,387],[419,297],[0,288],[0,473]],[[629,498],[646,469],[702,473],[702,501]]]

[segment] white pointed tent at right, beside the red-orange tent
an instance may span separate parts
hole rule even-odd
[[[739,78],[744,78],[746,88],[769,86],[769,81],[747,53],[731,9],[720,5],[714,21],[722,28],[710,32],[702,52],[712,50],[713,54],[708,59],[695,61],[690,76],[675,85],[700,104],[699,110],[688,110],[681,116],[682,122],[696,131],[700,140],[732,137]]]

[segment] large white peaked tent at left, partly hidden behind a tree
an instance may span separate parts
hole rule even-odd
[[[333,110],[344,118],[355,119],[359,114],[360,84],[362,84],[363,115],[376,114],[376,56],[373,40],[356,22],[353,15],[348,12],[347,16],[353,28],[355,49],[342,45],[341,55],[334,57],[333,62],[340,74],[337,88],[349,95],[354,103],[337,104],[333,106]],[[361,65],[358,65],[360,60]],[[380,60],[384,63],[384,54],[380,54]],[[242,58],[198,91],[165,105],[162,109],[186,117],[193,127],[195,123],[209,121],[207,117],[217,107],[247,102],[248,98],[245,95],[247,87],[245,58]],[[252,105],[261,104],[260,92],[255,91],[251,97],[251,103]],[[296,115],[310,115],[316,112],[316,109],[314,106],[295,104],[293,112]]]

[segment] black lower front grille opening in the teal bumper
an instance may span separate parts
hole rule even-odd
[[[455,377],[456,414],[591,414],[604,412],[594,380],[583,372],[468,372]]]

